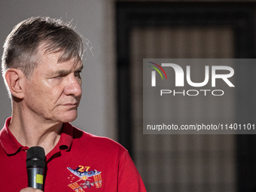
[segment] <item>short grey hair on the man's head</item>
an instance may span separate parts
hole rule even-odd
[[[58,62],[82,59],[84,48],[80,35],[62,20],[31,17],[14,26],[4,44],[2,75],[10,69],[20,69],[26,77],[38,66],[36,54],[44,44],[46,53],[62,52]],[[5,78],[5,77],[4,77]]]

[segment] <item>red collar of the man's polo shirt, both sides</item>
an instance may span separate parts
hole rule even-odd
[[[20,150],[28,150],[29,148],[21,145],[11,133],[9,130],[10,123],[11,117],[5,121],[5,126],[0,131],[0,143],[5,149],[5,152],[9,155],[14,155]],[[58,149],[68,151],[70,149],[73,142],[73,128],[70,123],[63,123],[59,142],[56,147],[53,148],[53,151]]]

